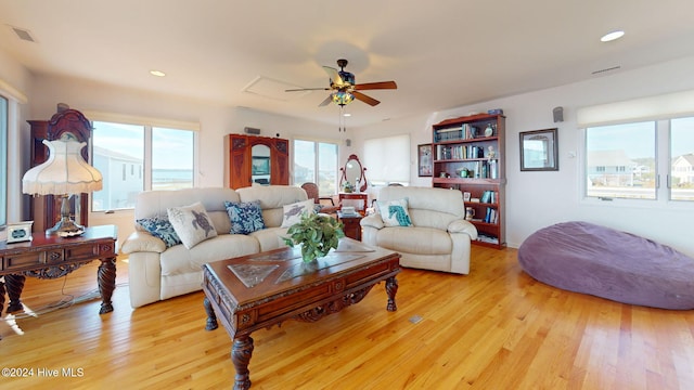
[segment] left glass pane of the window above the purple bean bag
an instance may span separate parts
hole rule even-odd
[[[586,195],[655,199],[656,123],[586,129]]]

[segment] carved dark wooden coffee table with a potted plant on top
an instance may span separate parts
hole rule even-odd
[[[303,264],[299,248],[282,248],[216,261],[203,266],[207,330],[221,320],[233,340],[231,361],[236,368],[234,389],[250,388],[250,334],[286,320],[316,322],[361,301],[385,281],[387,310],[396,311],[400,255],[340,239],[337,250]]]

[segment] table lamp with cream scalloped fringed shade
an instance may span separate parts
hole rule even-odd
[[[70,220],[68,198],[73,194],[91,193],[103,186],[101,172],[82,158],[80,151],[87,143],[77,141],[66,132],[59,140],[43,140],[48,146],[48,160],[29,169],[22,178],[22,192],[31,195],[57,195],[62,197],[61,219],[47,235],[63,237],[80,235],[83,226]]]

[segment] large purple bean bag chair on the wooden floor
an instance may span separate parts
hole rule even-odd
[[[536,280],[569,291],[652,308],[694,309],[694,259],[650,239],[587,222],[532,233],[518,262]]]

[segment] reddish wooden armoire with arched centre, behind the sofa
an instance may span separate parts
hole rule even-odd
[[[290,141],[270,136],[227,135],[229,145],[229,186],[241,188],[253,184],[253,146],[270,148],[270,179],[267,184],[290,184]]]

